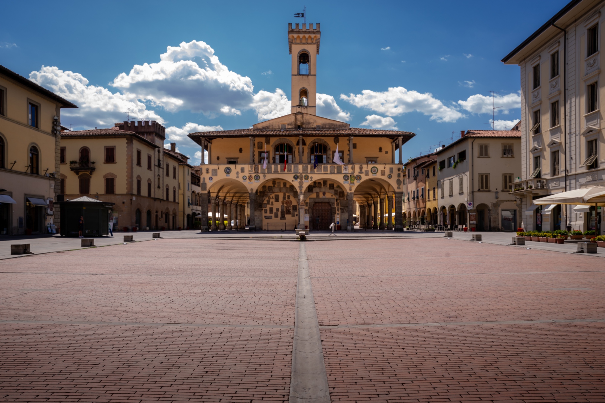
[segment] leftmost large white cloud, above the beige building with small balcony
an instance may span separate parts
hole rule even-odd
[[[78,109],[63,109],[63,124],[72,124],[81,129],[92,127],[111,127],[115,122],[126,120],[129,109],[131,118],[151,119],[164,123],[164,119],[132,95],[89,85],[82,74],[62,71],[57,67],[42,66],[39,71],[30,73],[30,80],[51,90],[78,106]]]

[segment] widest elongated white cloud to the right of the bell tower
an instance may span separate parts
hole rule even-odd
[[[437,122],[455,122],[465,116],[453,107],[445,106],[430,92],[421,94],[404,87],[390,87],[383,92],[365,89],[358,95],[349,94],[347,97],[341,94],[340,97],[341,100],[356,107],[370,109],[387,116],[399,116],[414,110],[431,116],[431,120]]]

